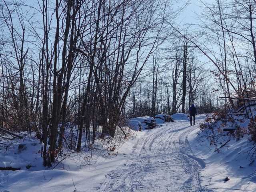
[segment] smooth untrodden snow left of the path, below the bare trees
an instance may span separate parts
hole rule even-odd
[[[54,169],[42,166],[42,157],[38,152],[40,145],[34,140],[26,138],[26,150],[17,153],[18,144],[11,147],[7,152],[0,149],[0,161],[4,166],[12,165],[13,162],[31,163],[32,167],[27,169],[22,166],[22,170],[0,171],[0,192],[72,192],[72,191],[98,191],[100,182],[105,175],[118,166],[124,166],[132,154],[134,147],[138,145],[138,140],[146,132],[131,131],[131,137],[125,144],[118,148],[118,153],[108,156],[99,156],[94,164],[83,166],[80,159],[84,159],[81,153],[70,151],[70,158],[60,162]],[[2,141],[1,141],[2,142]],[[32,144],[33,145],[32,145]],[[140,147],[138,145],[138,147]],[[36,151],[34,151],[36,150]],[[39,158],[34,162],[36,158]],[[20,165],[19,165],[20,166]],[[86,182],[85,182],[86,181]],[[75,188],[75,187],[76,188]]]

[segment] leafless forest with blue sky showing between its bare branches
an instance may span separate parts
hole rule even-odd
[[[196,24],[181,21],[193,3],[0,0],[0,144],[33,138],[52,167],[192,104],[244,116],[256,142],[256,1],[198,1]]]

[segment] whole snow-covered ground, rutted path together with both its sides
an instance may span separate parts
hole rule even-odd
[[[173,118],[175,122],[152,130],[132,131],[134,135],[117,153],[98,157],[95,164],[81,166],[74,156],[54,170],[0,171],[0,192],[255,191],[250,176],[241,179],[242,172],[249,170],[244,164],[233,172],[234,167],[222,161],[225,155],[235,156],[237,150],[217,154],[209,150],[209,144],[198,142],[205,115],[198,116],[195,126],[190,126],[184,114]],[[254,168],[250,167],[250,173]],[[230,180],[225,183],[226,176]]]

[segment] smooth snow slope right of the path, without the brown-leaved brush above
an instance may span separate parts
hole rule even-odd
[[[241,124],[246,126],[248,122]],[[238,141],[232,137],[230,139],[220,152],[214,152],[215,146],[210,146],[206,135],[199,128],[188,135],[194,156],[205,163],[205,168],[202,170],[202,185],[214,192],[255,192],[256,164],[250,163],[247,153],[252,148],[252,143],[248,140],[249,136],[245,135]],[[227,137],[219,140],[223,144],[226,141]],[[224,181],[226,177],[230,179],[227,182]]]

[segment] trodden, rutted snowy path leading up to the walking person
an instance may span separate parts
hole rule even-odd
[[[198,126],[175,122],[149,130],[127,164],[106,175],[102,192],[210,192],[201,186],[204,162],[193,156],[188,134]]]

